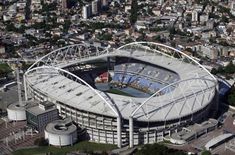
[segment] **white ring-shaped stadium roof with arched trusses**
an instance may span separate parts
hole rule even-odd
[[[68,46],[40,59],[26,72],[27,83],[35,90],[72,107],[108,116],[120,113],[126,119],[134,116],[141,121],[164,121],[184,117],[203,109],[214,97],[214,77],[197,62],[171,47],[156,43],[132,43],[112,52],[97,50],[96,53],[81,53],[80,50],[79,54],[74,52],[76,49],[80,47]],[[68,54],[69,50],[73,55]],[[169,55],[169,52],[179,56],[176,58]],[[80,57],[75,58],[79,55]],[[162,66],[176,72],[180,80],[161,89],[175,86],[171,93],[159,96],[159,90],[149,98],[135,98],[94,90],[87,83],[84,85],[76,75],[62,69],[71,64],[107,56],[132,57]],[[61,59],[64,61],[59,61]],[[40,65],[45,61],[43,65],[47,67]],[[41,67],[35,67],[38,65]]]

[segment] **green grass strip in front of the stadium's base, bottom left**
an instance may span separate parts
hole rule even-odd
[[[88,141],[78,142],[74,146],[66,146],[62,148],[57,148],[54,146],[41,146],[37,148],[29,148],[29,149],[20,149],[13,152],[13,155],[33,155],[33,154],[43,154],[51,152],[56,155],[64,155],[66,153],[72,151],[84,151],[84,152],[92,152],[92,151],[109,151],[117,148],[116,145],[111,144],[98,144],[92,143]]]

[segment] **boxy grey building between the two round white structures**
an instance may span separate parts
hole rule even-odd
[[[28,126],[42,132],[49,122],[59,119],[59,115],[54,104],[41,102],[39,105],[27,108],[26,118]]]

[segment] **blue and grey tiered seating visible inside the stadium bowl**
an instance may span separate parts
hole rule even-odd
[[[111,82],[135,85],[139,89],[147,88],[149,92],[154,93],[178,80],[178,75],[166,69],[140,63],[125,63],[114,66],[114,76]],[[162,93],[168,93],[173,89],[165,89]]]

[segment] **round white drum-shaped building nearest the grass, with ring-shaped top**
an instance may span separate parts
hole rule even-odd
[[[73,145],[77,141],[77,127],[71,119],[53,121],[45,128],[45,139],[54,146]]]

